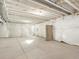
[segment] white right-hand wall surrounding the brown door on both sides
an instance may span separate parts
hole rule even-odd
[[[70,15],[56,19],[55,22],[45,22],[37,24],[36,35],[46,37],[45,27],[52,24],[54,26],[54,36],[57,41],[64,41],[72,45],[79,45],[79,16]],[[35,27],[36,27],[35,26]]]

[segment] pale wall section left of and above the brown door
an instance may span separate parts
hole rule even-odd
[[[52,25],[53,21],[47,21],[44,23],[36,24],[35,25],[35,35],[46,37],[46,25]]]

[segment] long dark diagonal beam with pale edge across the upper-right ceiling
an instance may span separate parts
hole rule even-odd
[[[33,1],[41,3],[43,5],[46,5],[46,6],[48,6],[50,8],[53,8],[53,9],[55,9],[57,11],[60,11],[63,14],[67,14],[67,15],[71,14],[68,10],[66,10],[66,9],[58,6],[57,4],[55,4],[54,2],[52,2],[51,0],[33,0]]]

